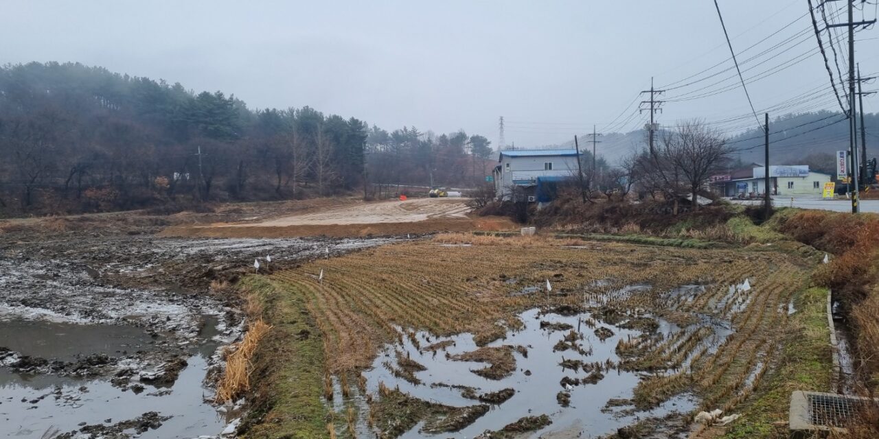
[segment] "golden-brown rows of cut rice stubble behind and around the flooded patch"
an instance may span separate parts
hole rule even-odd
[[[757,367],[757,363],[749,366],[746,361],[733,359],[755,350],[766,356],[768,344],[759,344],[759,340],[774,330],[773,325],[783,325],[778,308],[807,277],[788,255],[771,252],[581,240],[576,243],[590,244],[589,248],[564,248],[572,243],[569,241],[541,236],[441,234],[432,241],[405,242],[309,263],[272,274],[272,278],[306,299],[323,334],[324,354],[332,374],[369,367],[383,343],[398,340],[410,329],[436,335],[470,332],[477,341],[488,342],[504,335],[506,327],[514,322],[514,313],[533,306],[578,304],[587,299],[622,311],[647,309],[670,316],[699,312],[735,318],[737,334],[730,337],[718,356],[705,355],[706,331],[681,334],[675,342],[645,348],[663,363],[662,367],[683,367],[694,356],[700,365],[718,363],[715,371],[723,371],[704,387],[706,392],[713,392],[714,386],[728,386],[728,380],[747,377]],[[443,247],[438,243],[473,245]],[[597,249],[592,250],[592,246]],[[427,263],[416,263],[420,261]],[[313,276],[322,269],[323,284]],[[729,285],[745,277],[752,277],[754,289],[727,297]],[[550,295],[542,288],[546,279],[553,284]],[[662,294],[681,284],[704,282],[715,286],[693,302]],[[653,289],[630,295],[612,293],[630,284],[650,284]],[[516,294],[527,286],[540,289]],[[496,322],[505,323],[498,326]],[[396,327],[405,328],[403,334]],[[669,385],[677,388],[681,382]],[[725,402],[734,396],[728,391],[716,399]]]

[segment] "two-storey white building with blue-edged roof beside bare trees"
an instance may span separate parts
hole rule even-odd
[[[495,194],[510,199],[514,190],[531,199],[538,180],[557,182],[578,175],[576,149],[512,149],[501,151],[498,166],[492,171]],[[519,189],[521,191],[519,191]]]

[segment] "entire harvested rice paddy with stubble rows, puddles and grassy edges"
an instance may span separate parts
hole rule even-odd
[[[788,386],[829,386],[816,263],[757,244],[441,234],[246,277],[272,330],[243,429],[770,437]],[[717,408],[742,417],[694,430]]]

